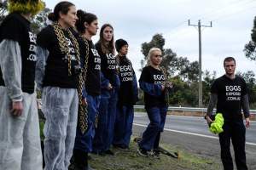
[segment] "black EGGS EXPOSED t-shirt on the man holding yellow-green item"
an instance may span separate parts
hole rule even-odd
[[[219,77],[213,82],[211,93],[218,95],[217,112],[224,115],[224,120],[241,119],[241,97],[247,94],[243,78]]]

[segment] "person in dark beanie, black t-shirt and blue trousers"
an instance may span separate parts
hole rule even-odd
[[[130,59],[127,59],[128,43],[119,39],[115,42],[118,51],[116,61],[118,65],[120,88],[114,127],[113,146],[121,150],[129,150],[132,122],[134,116],[133,105],[137,102],[137,78]]]

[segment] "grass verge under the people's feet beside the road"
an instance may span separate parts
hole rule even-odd
[[[216,170],[221,169],[219,162],[214,162],[202,156],[197,156],[172,147],[170,144],[161,144],[166,150],[178,151],[179,159],[161,154],[160,159],[143,157],[137,154],[137,144],[131,141],[131,151],[113,149],[114,156],[96,156],[91,154],[90,166],[96,170]]]

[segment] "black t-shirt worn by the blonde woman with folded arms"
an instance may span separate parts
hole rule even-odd
[[[162,71],[154,69],[152,66],[145,66],[143,68],[140,82],[147,82],[152,84],[164,84],[165,82],[165,76]],[[152,94],[144,93],[144,102],[145,107],[154,107],[154,106],[165,106],[165,94],[162,92],[160,96],[154,96]]]

